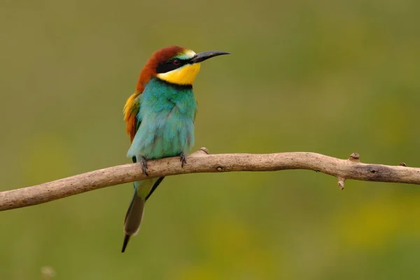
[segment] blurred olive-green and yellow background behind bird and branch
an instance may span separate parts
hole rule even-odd
[[[130,162],[123,105],[167,45],[196,145],[420,166],[420,2],[0,3],[0,190]],[[420,190],[309,171],[167,178],[120,253],[132,185],[0,214],[0,279],[419,279]]]

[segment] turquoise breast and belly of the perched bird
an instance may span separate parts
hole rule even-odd
[[[188,153],[194,145],[193,87],[152,78],[139,96],[141,122],[127,156],[146,160]]]

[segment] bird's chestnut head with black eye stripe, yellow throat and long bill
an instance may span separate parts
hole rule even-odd
[[[158,77],[176,85],[193,85],[200,62],[218,55],[228,55],[230,52],[213,50],[195,53],[188,48],[172,45],[153,53],[146,66],[141,70],[137,91],[142,92],[144,86],[152,77]]]

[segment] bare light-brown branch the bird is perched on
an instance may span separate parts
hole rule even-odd
[[[37,186],[6,190],[0,193],[0,211],[28,207],[146,178],[203,172],[255,172],[286,169],[307,169],[335,176],[340,189],[344,189],[346,179],[420,184],[420,168],[407,167],[403,163],[398,166],[365,164],[359,161],[357,153],[352,153],[347,160],[341,160],[305,152],[209,155],[207,148],[200,148],[199,151],[188,155],[187,164],[184,167],[181,167],[178,157],[148,161],[149,176],[141,172],[139,163],[132,163],[99,169]]]

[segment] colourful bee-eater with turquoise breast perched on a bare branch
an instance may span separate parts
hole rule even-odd
[[[153,52],[148,59],[123,109],[131,143],[127,157],[139,162],[146,176],[148,160],[179,156],[181,166],[186,164],[186,154],[194,145],[197,114],[193,82],[201,62],[228,54],[218,50],[196,53],[171,45]],[[134,195],[124,221],[123,253],[130,237],[139,232],[146,201],[164,178],[134,182]]]

